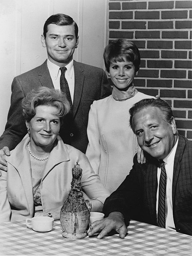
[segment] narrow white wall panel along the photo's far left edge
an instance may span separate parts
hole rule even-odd
[[[0,28],[0,134],[2,134],[10,105],[11,83],[16,75],[16,0],[0,0]]]

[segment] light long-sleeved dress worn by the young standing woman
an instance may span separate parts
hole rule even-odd
[[[91,105],[86,156],[110,192],[118,188],[132,168],[138,143],[129,125],[129,109],[146,98],[153,97],[137,92],[128,100],[118,101],[111,95]]]

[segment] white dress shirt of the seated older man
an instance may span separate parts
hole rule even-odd
[[[168,230],[175,230],[175,224],[173,220],[173,201],[172,201],[172,184],[173,184],[173,167],[174,167],[174,159],[175,159],[175,152],[177,149],[178,138],[177,141],[172,148],[171,152],[169,153],[166,158],[163,159],[165,162],[165,169],[167,174],[167,185],[166,185],[166,229]],[[161,168],[157,168],[157,203],[156,203],[156,211],[158,212],[158,199],[159,199],[159,181],[160,181],[160,173]],[[176,231],[176,230],[175,230]]]

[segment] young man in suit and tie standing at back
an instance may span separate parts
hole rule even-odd
[[[48,59],[41,66],[15,77],[12,82],[8,121],[0,137],[0,168],[3,170],[6,170],[3,167],[6,162],[1,156],[5,152],[9,155],[9,150],[14,149],[27,132],[21,100],[29,91],[41,86],[60,89],[60,68],[67,68],[63,79],[67,79],[72,102],[71,112],[65,118],[60,136],[64,143],[83,153],[88,143],[87,121],[90,105],[93,100],[111,93],[105,71],[73,60],[73,53],[79,43],[78,26],[73,18],[64,14],[50,16],[44,24],[41,42],[47,48]]]

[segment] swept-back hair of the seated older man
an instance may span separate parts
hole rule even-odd
[[[134,129],[133,129],[132,121],[133,121],[134,115],[136,115],[138,112],[148,107],[157,107],[158,109],[160,109],[163,116],[165,117],[165,121],[168,123],[171,123],[173,113],[172,113],[171,107],[169,106],[168,103],[166,103],[166,101],[161,99],[144,99],[135,103],[134,106],[132,106],[131,109],[129,109],[129,114],[130,114],[129,123],[133,132],[134,132]]]

